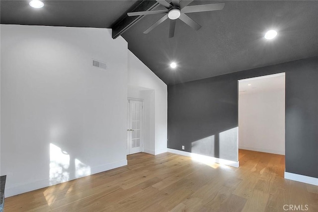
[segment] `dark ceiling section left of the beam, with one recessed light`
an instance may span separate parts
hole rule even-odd
[[[1,24],[111,28],[136,0],[43,0],[35,9],[30,0],[1,0]]]

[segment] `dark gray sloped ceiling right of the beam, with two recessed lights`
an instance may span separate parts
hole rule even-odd
[[[220,11],[188,13],[202,26],[198,31],[177,20],[174,38],[168,38],[168,21],[143,34],[159,14],[146,16],[123,37],[168,85],[318,55],[318,1],[225,2]],[[278,36],[265,40],[272,28]]]

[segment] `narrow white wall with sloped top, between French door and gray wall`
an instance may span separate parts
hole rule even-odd
[[[128,92],[129,97],[138,98],[136,91],[139,91],[142,98],[145,98],[145,104],[149,104],[150,111],[146,111],[147,105],[144,111],[145,152],[154,155],[166,152],[167,85],[130,51],[128,51],[128,85],[130,90],[135,90]]]

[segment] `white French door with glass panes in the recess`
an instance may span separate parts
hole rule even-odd
[[[142,152],[143,102],[128,100],[127,155]]]

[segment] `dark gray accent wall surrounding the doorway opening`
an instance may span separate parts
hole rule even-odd
[[[238,126],[238,80],[281,72],[286,171],[318,177],[318,57],[168,86],[168,148],[236,160],[237,135],[220,135]]]

